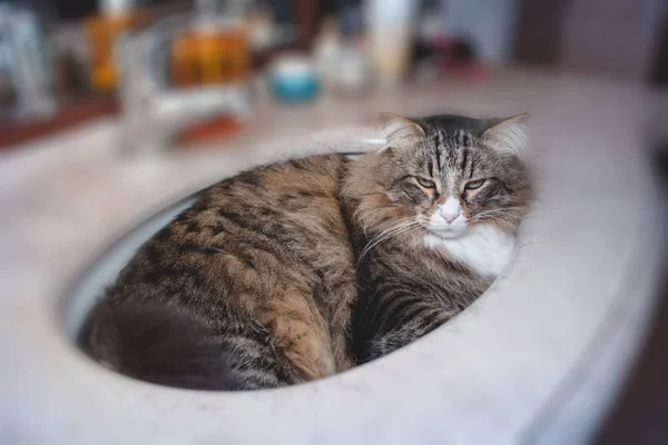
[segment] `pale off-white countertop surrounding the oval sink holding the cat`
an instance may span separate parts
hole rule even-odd
[[[625,83],[536,72],[478,83],[444,80],[392,96],[264,103],[240,136],[191,155],[122,158],[112,119],[0,152],[0,443],[588,437],[615,396],[652,305],[658,196],[642,130],[656,98]],[[333,379],[235,395],[129,382],[88,363],[69,344],[58,316],[61,294],[115,237],[242,168],[326,151],[324,141],[332,138],[371,137],[371,130],[350,128],[380,111],[532,115],[540,201],[530,235],[508,276],[455,323]],[[336,128],[348,130],[332,132]],[[314,134],[321,142],[308,142]],[[635,293],[635,300],[622,298]],[[473,323],[483,316],[484,323]],[[587,364],[588,356],[597,362]],[[415,368],[415,357],[429,367]],[[462,376],[477,386],[458,384]],[[397,393],[397,379],[413,398]],[[116,395],[92,394],[101,390],[99,382]],[[362,408],[365,415],[353,416]]]

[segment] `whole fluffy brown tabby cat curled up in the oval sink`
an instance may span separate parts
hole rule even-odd
[[[384,149],[261,167],[156,234],[85,349],[144,380],[254,389],[387,354],[479,297],[530,200],[522,122],[384,115]]]

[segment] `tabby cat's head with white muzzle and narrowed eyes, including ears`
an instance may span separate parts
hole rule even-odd
[[[490,225],[514,233],[531,196],[523,160],[527,118],[382,115],[387,144],[353,167],[345,191],[357,196],[364,231],[448,239]]]

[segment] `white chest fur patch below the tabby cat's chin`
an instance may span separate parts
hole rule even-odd
[[[446,249],[454,259],[469,266],[481,276],[501,274],[514,250],[515,237],[492,226],[474,226],[452,239],[426,235],[424,244],[431,248]]]

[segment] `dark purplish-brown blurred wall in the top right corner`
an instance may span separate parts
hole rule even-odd
[[[521,0],[514,59],[639,82],[652,71],[662,78],[666,43],[656,41],[667,39],[665,1]]]

